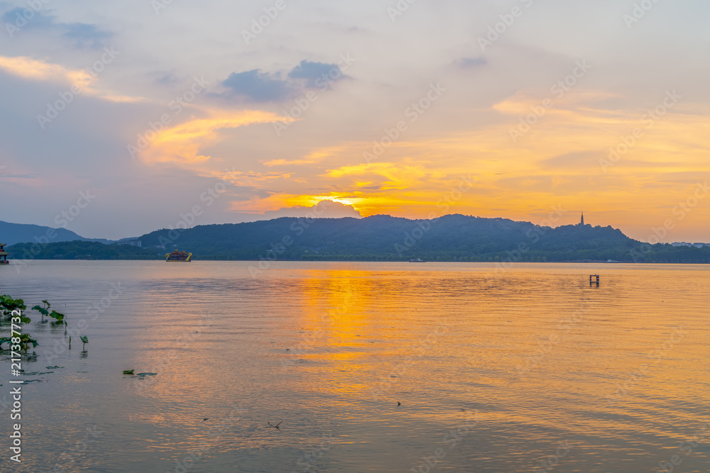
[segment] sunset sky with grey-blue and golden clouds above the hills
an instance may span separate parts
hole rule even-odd
[[[710,243],[704,0],[0,1],[0,220],[447,213]],[[550,218],[555,216],[555,218]]]

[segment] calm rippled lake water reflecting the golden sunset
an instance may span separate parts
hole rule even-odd
[[[1,355],[0,471],[710,469],[709,267],[251,265],[0,268],[89,336],[31,314],[21,465]]]

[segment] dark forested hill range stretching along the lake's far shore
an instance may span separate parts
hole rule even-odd
[[[385,260],[710,262],[710,248],[648,245],[611,227],[535,226],[504,218],[449,215],[434,221],[391,216],[278,218],[158,230],[143,248],[83,242],[40,245],[35,258],[157,259],[178,248],[195,260]],[[14,245],[20,259],[29,245]]]

